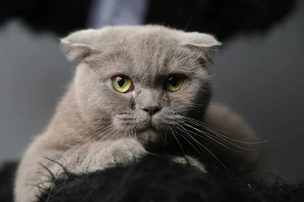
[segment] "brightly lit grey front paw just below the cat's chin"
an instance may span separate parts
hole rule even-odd
[[[96,156],[99,169],[134,163],[145,156],[147,151],[139,142],[133,139],[120,139],[112,141]]]

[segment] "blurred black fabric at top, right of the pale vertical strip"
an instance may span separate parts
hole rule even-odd
[[[294,0],[154,0],[147,22],[214,34],[225,41],[238,34],[262,33],[279,23]]]

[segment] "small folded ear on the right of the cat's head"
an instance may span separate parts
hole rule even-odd
[[[182,46],[192,49],[206,61],[210,61],[211,55],[218,50],[221,43],[210,34],[186,32],[183,34]]]

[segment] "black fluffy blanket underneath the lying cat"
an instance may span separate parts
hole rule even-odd
[[[0,201],[12,201],[16,163],[0,171]],[[50,175],[50,180],[54,178]],[[118,165],[87,175],[66,173],[55,181],[40,201],[62,202],[297,202],[304,201],[303,185],[269,187],[255,183],[242,174],[214,169],[207,174],[163,157],[145,157],[138,163]]]

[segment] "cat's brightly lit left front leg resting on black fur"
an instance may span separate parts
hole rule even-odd
[[[147,154],[137,141],[119,139],[91,142],[64,152],[38,151],[35,142],[26,152],[17,172],[15,201],[37,201],[37,197],[53,186],[54,180],[69,173],[85,174],[117,164],[128,165]]]

